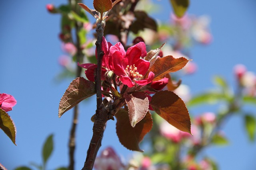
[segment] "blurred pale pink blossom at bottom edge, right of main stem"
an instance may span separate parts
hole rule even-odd
[[[96,170],[122,170],[124,166],[114,149],[108,147],[96,158],[94,168]]]

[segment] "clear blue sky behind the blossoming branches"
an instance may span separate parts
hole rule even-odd
[[[0,2],[0,92],[14,96],[17,105],[9,114],[17,128],[16,143],[0,132],[0,162],[9,170],[30,162],[41,163],[44,140],[54,134],[54,152],[48,169],[68,165],[68,134],[72,112],[58,118],[60,98],[72,79],[56,83],[61,72],[58,57],[60,48],[60,16],[50,15],[46,4],[66,3],[65,0],[13,0]],[[91,3],[88,1],[86,3]],[[162,12],[171,11],[168,0],[157,1]],[[168,4],[168,5],[167,5]],[[90,5],[89,5],[90,6]],[[224,76],[234,84],[232,69],[235,64],[245,64],[256,72],[256,2],[254,0],[192,1],[191,14],[209,15],[213,42],[191,49],[198,72],[183,78],[193,94],[212,87],[212,76]],[[169,13],[156,16],[168,18]],[[96,109],[95,98],[80,107],[77,132],[76,169],[82,168],[92,136],[90,117]],[[252,107],[252,111],[255,111]],[[198,111],[210,111],[207,107]],[[214,110],[211,110],[214,111]],[[244,133],[241,117],[234,116],[226,122],[224,132],[230,140],[228,147],[212,147],[203,154],[214,158],[220,170],[253,169],[256,166],[256,145]],[[114,146],[118,154],[132,154],[118,141],[115,122],[107,125],[102,148]]]

